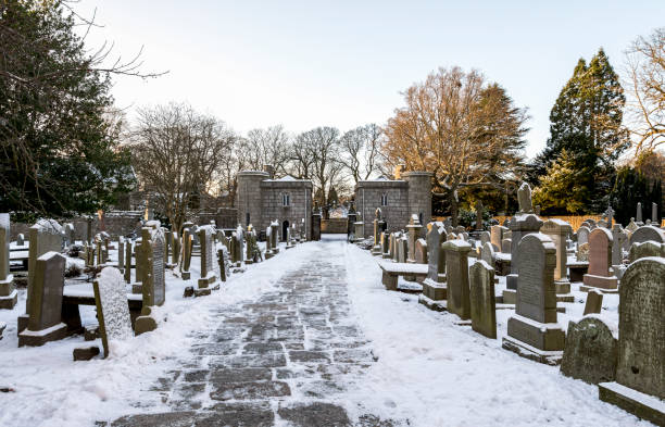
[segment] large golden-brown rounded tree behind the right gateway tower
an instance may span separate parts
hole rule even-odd
[[[457,221],[457,190],[501,183],[522,165],[526,111],[503,88],[459,67],[439,68],[404,92],[406,106],[386,126],[384,150],[391,164],[429,171],[448,192]]]

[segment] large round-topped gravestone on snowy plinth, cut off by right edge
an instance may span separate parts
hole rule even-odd
[[[665,259],[628,266],[619,287],[615,382],[599,384],[600,399],[648,419],[665,422]]]

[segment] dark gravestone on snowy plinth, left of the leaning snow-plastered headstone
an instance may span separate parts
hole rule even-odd
[[[62,322],[65,262],[58,252],[47,252],[37,259],[35,276],[28,288],[27,323],[20,330],[18,347],[43,346],[66,337],[67,325]],[[21,318],[18,323],[22,323]]]

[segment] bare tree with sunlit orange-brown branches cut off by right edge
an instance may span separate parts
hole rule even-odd
[[[665,27],[639,37],[626,51],[636,155],[665,145]]]

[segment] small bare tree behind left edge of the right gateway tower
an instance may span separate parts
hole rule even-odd
[[[379,171],[382,134],[381,128],[372,123],[342,135],[339,162],[355,184],[359,180],[369,179],[372,174]]]

